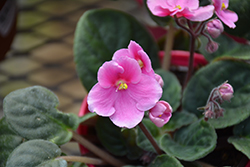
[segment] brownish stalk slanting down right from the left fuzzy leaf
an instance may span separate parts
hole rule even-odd
[[[116,166],[116,167],[120,167],[120,166],[125,165],[125,163],[114,158],[113,156],[111,156],[107,152],[103,151],[102,149],[98,148],[97,146],[95,146],[94,144],[92,144],[91,142],[89,142],[88,140],[86,140],[84,137],[80,136],[76,132],[74,132],[74,131],[72,131],[72,132],[73,132],[73,139],[75,139],[77,142],[79,142],[81,145],[83,145],[89,151],[93,152],[94,154],[96,154],[97,156],[102,158],[107,163],[109,163],[113,166]]]

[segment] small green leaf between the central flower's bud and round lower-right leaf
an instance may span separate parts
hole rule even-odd
[[[174,112],[169,122],[163,126],[163,129],[166,131],[175,131],[197,120],[198,118],[192,113],[186,111]]]

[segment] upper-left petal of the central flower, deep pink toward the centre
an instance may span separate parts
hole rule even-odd
[[[105,62],[98,70],[97,80],[103,88],[109,88],[116,84],[119,75],[124,69],[115,61]]]

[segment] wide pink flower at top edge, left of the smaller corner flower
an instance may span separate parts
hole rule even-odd
[[[148,0],[149,10],[156,16],[185,17],[191,21],[204,21],[212,17],[214,7],[199,7],[198,0]]]

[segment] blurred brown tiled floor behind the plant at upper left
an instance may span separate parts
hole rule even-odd
[[[105,7],[145,19],[135,0],[17,2],[17,34],[6,59],[0,62],[0,117],[3,98],[11,91],[32,85],[49,88],[59,97],[61,111],[77,114],[87,93],[73,62],[74,31],[80,16],[86,10]]]

